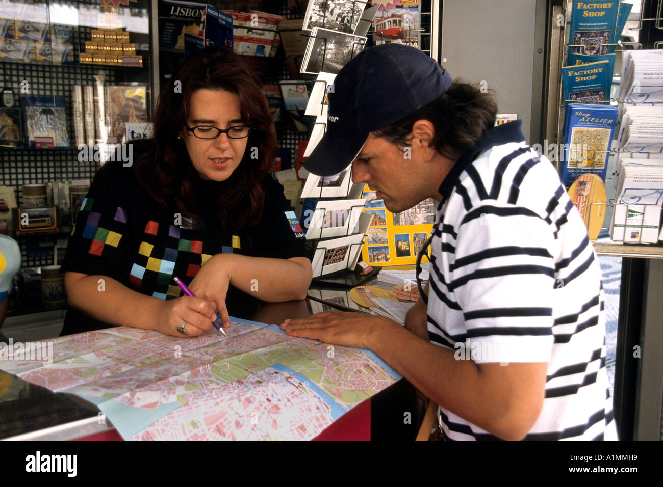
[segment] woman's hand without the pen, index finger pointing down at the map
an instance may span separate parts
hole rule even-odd
[[[196,298],[207,299],[215,303],[224,328],[230,326],[230,315],[225,306],[225,297],[228,294],[231,278],[229,266],[223,262],[223,254],[216,254],[198,270],[198,274],[189,284],[189,289],[196,295]]]

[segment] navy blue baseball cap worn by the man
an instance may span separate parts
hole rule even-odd
[[[416,48],[391,43],[363,50],[334,79],[327,132],[304,168],[318,176],[338,174],[371,132],[428,105],[451,83],[450,74]]]

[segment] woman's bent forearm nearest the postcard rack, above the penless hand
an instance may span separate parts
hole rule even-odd
[[[223,266],[227,266],[230,284],[247,294],[269,302],[306,298],[313,270],[311,262],[305,257],[219,256]]]

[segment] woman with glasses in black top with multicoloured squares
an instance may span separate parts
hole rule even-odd
[[[269,175],[274,124],[241,56],[207,49],[184,62],[160,93],[153,140],[130,144],[129,163],[102,166],[78,213],[63,335],[127,325],[195,337],[217,312],[229,326],[229,292],[306,297],[311,264]]]

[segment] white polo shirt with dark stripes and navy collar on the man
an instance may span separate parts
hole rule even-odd
[[[440,194],[430,341],[457,360],[548,362],[543,407],[524,439],[616,440],[601,269],[554,166],[515,121],[465,151]],[[440,407],[446,439],[499,439],[457,412]]]

